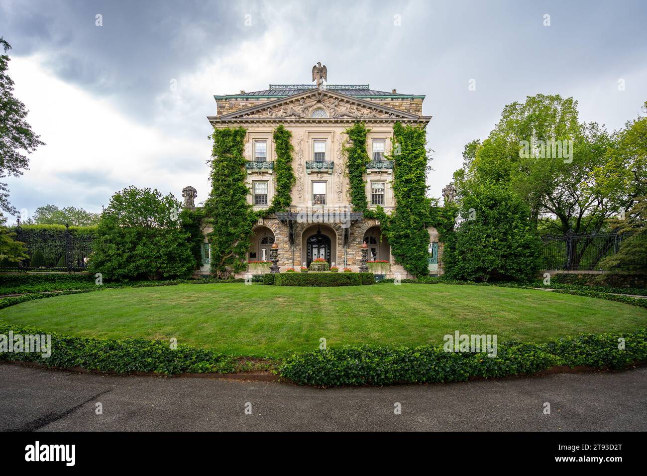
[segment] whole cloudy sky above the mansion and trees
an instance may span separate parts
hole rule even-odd
[[[609,130],[637,117],[646,18],[640,0],[0,0],[15,94],[47,143],[8,179],[12,203],[100,211],[131,184],[202,201],[212,95],[309,83],[319,61],[333,84],[426,95],[439,197],[505,104],[560,93]]]

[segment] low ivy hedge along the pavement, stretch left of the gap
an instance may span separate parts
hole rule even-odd
[[[236,370],[235,358],[213,350],[148,339],[104,340],[93,337],[68,337],[32,327],[20,327],[0,321],[0,334],[51,334],[52,355],[36,352],[0,352],[0,359],[36,362],[49,367],[82,367],[87,370],[117,372],[159,372],[161,374],[230,373]]]

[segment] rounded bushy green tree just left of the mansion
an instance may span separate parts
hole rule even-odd
[[[90,269],[115,280],[188,277],[195,258],[181,210],[177,199],[158,190],[117,192],[101,214]]]

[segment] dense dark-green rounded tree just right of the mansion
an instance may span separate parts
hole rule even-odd
[[[538,270],[540,240],[529,207],[508,188],[478,185],[463,196],[459,226],[444,251],[448,277],[529,280]]]

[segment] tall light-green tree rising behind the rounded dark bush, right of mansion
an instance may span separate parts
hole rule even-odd
[[[505,106],[483,143],[466,146],[455,173],[458,196],[462,188],[498,183],[527,203],[535,229],[600,231],[617,212],[618,190],[604,187],[595,171],[608,163],[615,140],[596,123],[580,124],[573,98],[529,96]]]

